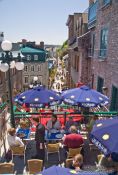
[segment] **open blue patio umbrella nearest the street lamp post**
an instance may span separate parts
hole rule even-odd
[[[17,95],[14,101],[27,107],[42,107],[47,104],[58,104],[60,100],[61,97],[55,91],[38,86]]]

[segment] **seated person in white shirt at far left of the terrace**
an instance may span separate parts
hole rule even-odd
[[[24,146],[22,140],[16,136],[16,129],[10,128],[7,136],[9,146]]]

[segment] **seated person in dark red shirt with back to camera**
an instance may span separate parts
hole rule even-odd
[[[70,134],[63,137],[63,143],[66,150],[69,148],[79,148],[83,144],[83,138],[78,134],[76,126],[70,127]]]

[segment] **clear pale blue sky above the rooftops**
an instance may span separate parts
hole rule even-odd
[[[62,44],[68,37],[69,14],[83,12],[89,0],[0,0],[0,31],[18,42]]]

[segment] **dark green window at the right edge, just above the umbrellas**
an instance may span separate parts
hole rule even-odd
[[[112,86],[111,111],[118,111],[118,88]]]

